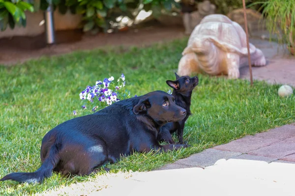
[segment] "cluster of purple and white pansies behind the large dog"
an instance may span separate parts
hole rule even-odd
[[[114,80],[113,76],[105,78],[103,81],[97,80],[94,86],[87,86],[79,94],[80,99],[88,100],[92,108],[91,111],[95,112],[97,108],[102,109],[120,99],[130,98],[130,93],[124,90],[126,82],[124,74],[121,74],[116,84]],[[82,108],[86,110],[87,106],[83,105]]]

